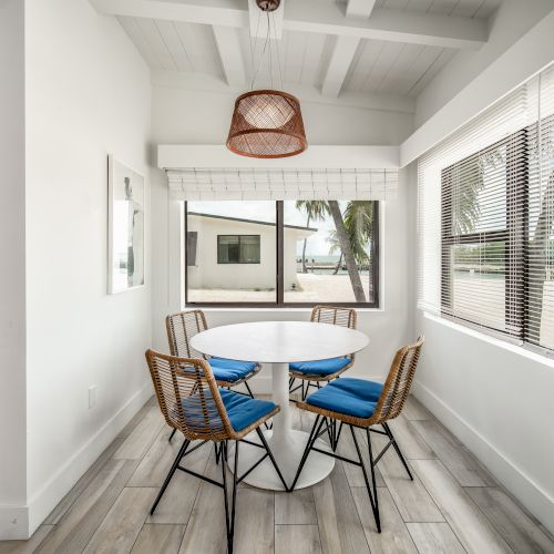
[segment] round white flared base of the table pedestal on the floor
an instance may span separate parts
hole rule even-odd
[[[296,472],[298,470],[298,464],[300,463],[300,458],[302,456],[304,450],[308,442],[309,433],[304,431],[290,430],[287,435],[280,440],[276,441],[271,430],[264,431],[264,435],[267,439],[267,443],[271,449],[271,452],[277,460],[279,469],[285,478],[288,486],[293,484]],[[246,435],[252,442],[260,443],[256,432]],[[321,450],[331,451],[329,444],[324,442],[321,439],[316,441],[317,448]],[[264,454],[265,450],[263,448],[252,447],[244,442],[240,443],[238,453],[238,475],[243,475],[248,468],[252,468],[257,460],[259,460]],[[228,466],[230,471],[234,472],[234,458],[233,452],[235,449],[229,448],[228,454]],[[319,452],[311,451],[306,464],[304,465],[300,478],[298,479],[296,489],[304,489],[306,486],[311,486],[319,481],[322,481],[335,466],[335,459]],[[245,480],[245,483],[257,486],[258,489],[267,489],[269,491],[283,491],[283,483],[280,482],[279,475],[275,471],[275,468],[267,456],[252,473],[249,473]]]

